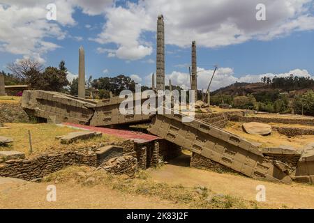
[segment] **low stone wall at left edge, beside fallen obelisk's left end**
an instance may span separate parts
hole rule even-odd
[[[0,103],[0,123],[21,123],[29,121],[20,104]]]

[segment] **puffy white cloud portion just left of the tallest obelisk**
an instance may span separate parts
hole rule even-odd
[[[107,9],[107,23],[103,32],[94,40],[100,44],[116,43],[117,49],[110,56],[119,59],[137,60],[153,52],[151,43],[141,39],[142,31],[154,31],[146,11],[135,3],[127,3],[128,8],[112,7]]]

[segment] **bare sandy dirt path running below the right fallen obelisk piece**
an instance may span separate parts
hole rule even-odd
[[[203,185],[216,193],[231,194],[248,200],[255,200],[257,185],[266,187],[266,205],[283,208],[314,208],[314,185],[292,183],[284,185],[245,176],[218,174],[214,171],[187,167],[189,157],[181,155],[160,169],[150,169],[149,174],[158,182],[181,184],[186,187]]]

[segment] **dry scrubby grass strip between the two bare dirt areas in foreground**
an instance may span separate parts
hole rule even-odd
[[[92,179],[92,180],[90,180]],[[107,174],[102,169],[92,167],[68,167],[45,176],[44,182],[72,183],[82,187],[106,185],[122,194],[142,195],[157,197],[184,204],[189,208],[262,208],[255,201],[247,201],[239,197],[216,194],[207,187],[184,187],[183,185],[168,185],[156,183],[146,171],[140,171],[137,177],[114,176]]]

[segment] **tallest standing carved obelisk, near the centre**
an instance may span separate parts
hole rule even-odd
[[[157,20],[156,90],[165,90],[165,29],[163,15]]]

